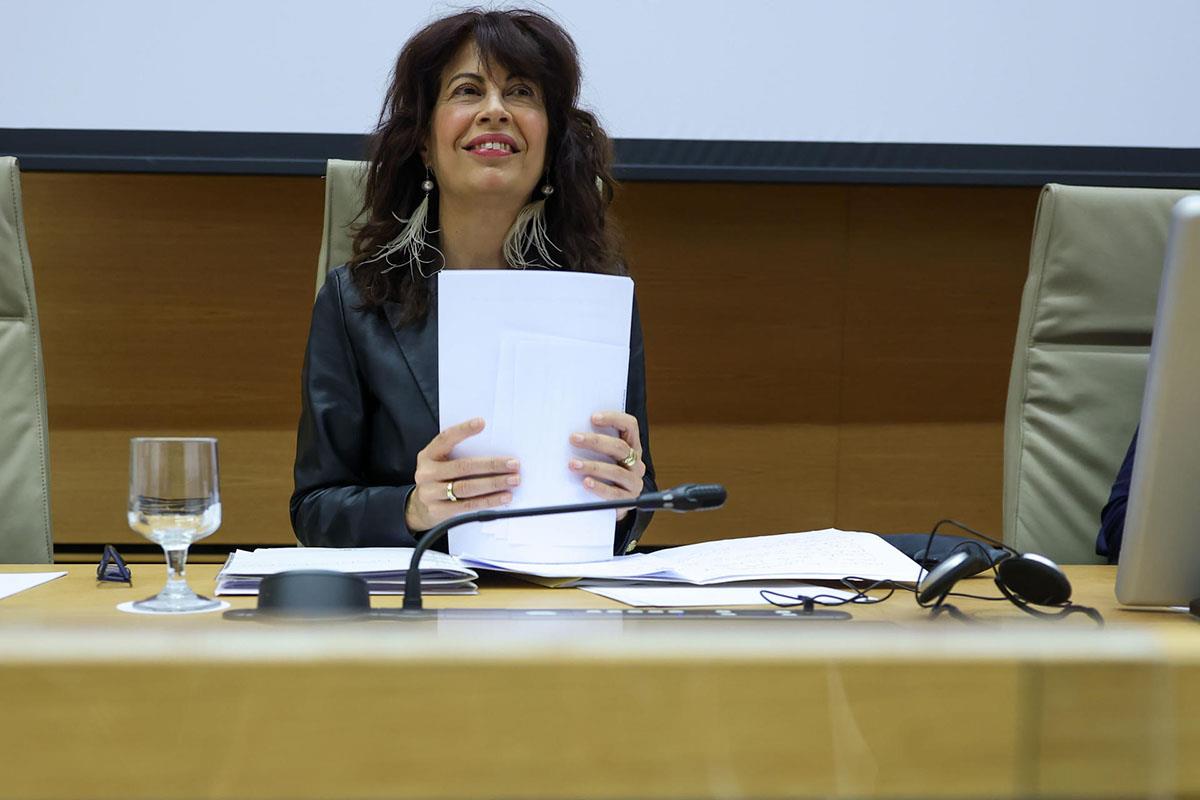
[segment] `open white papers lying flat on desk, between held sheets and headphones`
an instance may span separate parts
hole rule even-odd
[[[466,554],[460,558],[468,566],[485,570],[565,579],[556,585],[577,585],[580,579],[592,585],[595,581],[709,585],[850,577],[916,583],[920,575],[920,566],[882,536],[835,528],[726,539],[577,564],[526,564]]]

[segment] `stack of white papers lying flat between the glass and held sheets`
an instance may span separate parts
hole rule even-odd
[[[288,570],[334,570],[366,578],[372,595],[404,594],[412,547],[259,547],[234,551],[217,573],[217,595],[257,595],[263,577]],[[452,555],[421,557],[421,593],[474,595],[479,573]]]

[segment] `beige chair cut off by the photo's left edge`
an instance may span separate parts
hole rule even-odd
[[[0,564],[53,555],[43,375],[20,170],[0,157]]]

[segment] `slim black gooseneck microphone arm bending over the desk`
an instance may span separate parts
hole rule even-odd
[[[673,489],[664,492],[646,492],[632,500],[598,500],[595,503],[575,503],[560,506],[541,506],[538,509],[480,509],[468,511],[456,517],[450,517],[444,522],[430,528],[413,548],[413,559],[408,564],[408,575],[404,576],[404,604],[403,609],[418,612],[424,607],[421,603],[421,557],[425,551],[442,541],[442,537],[451,528],[464,525],[468,522],[492,522],[493,519],[514,519],[517,517],[545,517],[554,513],[577,513],[580,511],[602,511],[605,509],[629,509],[638,511],[654,511],[667,509],[670,511],[703,511],[706,509],[719,509],[725,504],[725,487],[720,483],[683,483]]]

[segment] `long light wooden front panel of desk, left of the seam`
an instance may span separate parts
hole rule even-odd
[[[1018,675],[620,656],[0,663],[14,765],[0,796],[1028,796]],[[979,681],[985,706],[968,700]],[[922,709],[934,686],[944,705]]]

